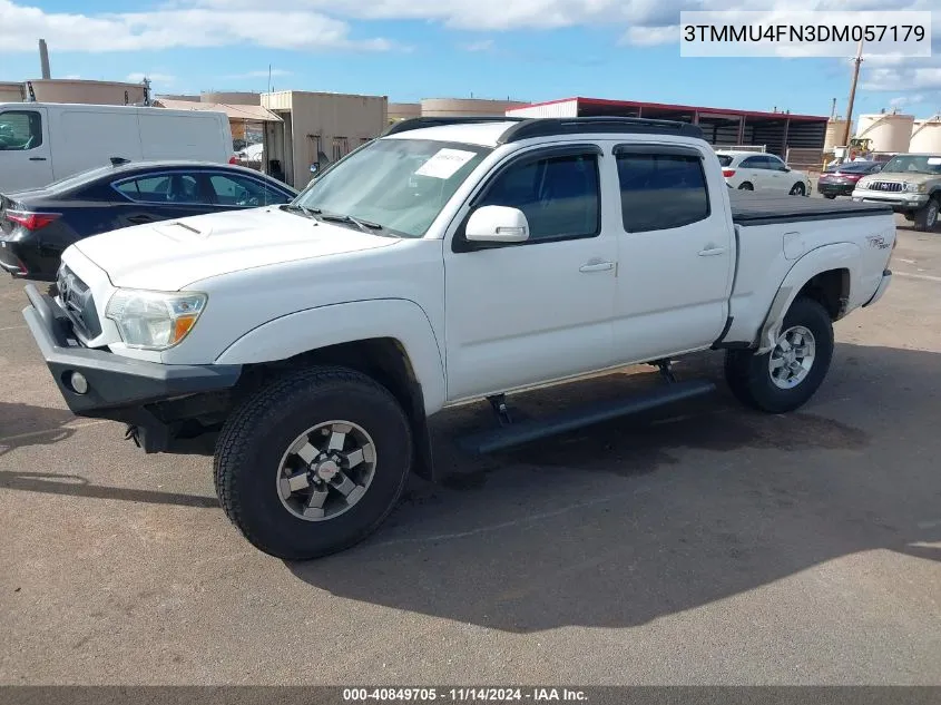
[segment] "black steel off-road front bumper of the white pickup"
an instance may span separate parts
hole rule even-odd
[[[28,284],[23,309],[29,330],[69,409],[77,415],[128,424],[154,422],[148,404],[235,385],[241,365],[165,365],[81,346],[51,296]]]

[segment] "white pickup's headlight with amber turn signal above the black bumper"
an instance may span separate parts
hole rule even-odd
[[[128,347],[166,350],[193,330],[206,307],[206,294],[119,288],[105,315],[115,322]]]

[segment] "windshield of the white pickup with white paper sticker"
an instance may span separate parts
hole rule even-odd
[[[421,237],[491,151],[432,139],[376,139],[324,172],[292,205]]]

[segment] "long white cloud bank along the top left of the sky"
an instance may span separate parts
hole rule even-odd
[[[383,38],[352,39],[350,25],[310,10],[226,9],[194,4],[147,12],[46,12],[0,0],[0,53],[36,51],[42,37],[56,51],[139,51],[255,45],[278,49],[385,51]],[[237,4],[237,0],[236,0]],[[257,8],[257,4],[252,4]]]

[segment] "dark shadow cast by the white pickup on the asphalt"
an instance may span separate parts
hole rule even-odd
[[[707,354],[680,376],[721,379]],[[861,551],[941,561],[937,353],[839,346],[804,411],[718,399],[471,459],[447,438],[489,421],[467,407],[435,424],[449,477],[411,483],[370,540],[290,564],[354,600],[513,633],[628,627]],[[646,375],[641,375],[646,378]],[[612,375],[527,395],[535,412],[651,383]],[[734,451],[734,452],[732,452]]]

